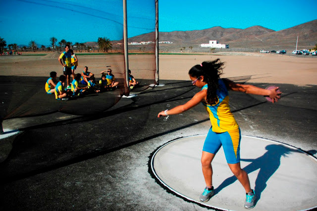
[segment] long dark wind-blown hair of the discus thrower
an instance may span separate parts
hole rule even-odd
[[[204,76],[204,81],[208,84],[207,103],[213,105],[218,101],[216,91],[219,88],[218,79],[222,74],[224,62],[219,58],[212,61],[204,61],[202,64],[193,66],[188,74],[192,77],[199,78]]]

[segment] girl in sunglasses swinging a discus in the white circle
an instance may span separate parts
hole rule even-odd
[[[182,113],[202,103],[210,116],[211,128],[206,137],[201,158],[206,187],[200,200],[207,202],[213,195],[211,162],[222,146],[230,170],[246,191],[244,207],[252,209],[256,203],[255,192],[251,189],[248,174],[240,167],[241,133],[239,125],[230,111],[228,90],[268,96],[272,99],[272,103],[280,99],[281,92],[278,91],[278,87],[266,90],[222,79],[220,75],[223,64],[219,59],[215,59],[193,66],[189,70],[189,77],[192,84],[201,88],[201,91],[184,105],[159,112],[158,117]]]

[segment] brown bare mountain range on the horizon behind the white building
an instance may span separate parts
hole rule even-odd
[[[262,26],[246,29],[222,28],[220,26],[203,30],[159,32],[159,41],[170,41],[173,44],[194,46],[216,40],[229,44],[230,48],[267,48],[294,49],[298,36],[298,48],[313,48],[317,44],[317,19],[288,29],[274,31]],[[128,42],[153,40],[155,33],[131,37]]]

